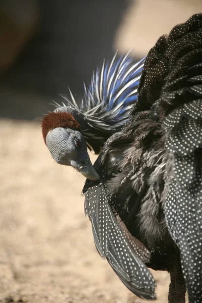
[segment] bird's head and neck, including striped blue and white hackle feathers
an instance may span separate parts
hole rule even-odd
[[[71,90],[70,97],[61,95],[55,110],[42,121],[42,136],[53,159],[72,166],[86,178],[98,180],[88,149],[99,154],[107,139],[128,121],[131,105],[137,99],[137,87],[145,58],[139,62],[126,55],[103,62],[93,72],[80,107]]]

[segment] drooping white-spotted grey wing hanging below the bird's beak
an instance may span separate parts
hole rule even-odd
[[[125,286],[139,297],[155,299],[156,282],[143,264],[150,259],[145,246],[134,238],[110,207],[102,181],[86,181],[85,213],[91,221],[95,246]]]

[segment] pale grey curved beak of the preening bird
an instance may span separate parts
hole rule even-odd
[[[89,156],[87,157],[87,159],[79,161],[71,160],[71,166],[80,172],[85,178],[97,181],[99,180],[99,175],[96,173]]]

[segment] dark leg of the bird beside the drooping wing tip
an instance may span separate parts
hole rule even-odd
[[[185,303],[186,284],[182,274],[179,256],[170,269],[171,282],[169,286],[168,302]]]

